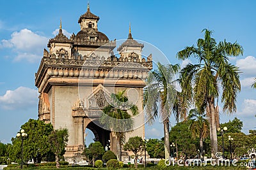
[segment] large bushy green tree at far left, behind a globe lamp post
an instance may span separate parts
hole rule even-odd
[[[51,148],[49,148],[48,136],[53,130],[52,124],[45,124],[41,120],[29,119],[20,129],[24,129],[28,134],[28,136],[24,138],[24,161],[27,162],[33,159],[35,163],[40,163],[42,158],[51,150]],[[13,161],[20,159],[20,138],[12,138],[12,145],[8,146],[8,154]]]

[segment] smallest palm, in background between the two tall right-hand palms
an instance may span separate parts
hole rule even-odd
[[[192,136],[199,137],[200,146],[200,158],[202,159],[204,155],[204,139],[207,138],[209,134],[209,123],[205,119],[206,114],[199,112],[196,108],[189,111],[189,129],[192,132]]]

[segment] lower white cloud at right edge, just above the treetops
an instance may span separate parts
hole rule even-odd
[[[242,104],[242,111],[238,111],[237,115],[243,117],[255,117],[256,115],[256,100],[244,99]]]

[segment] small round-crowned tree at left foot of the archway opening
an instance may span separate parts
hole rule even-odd
[[[92,159],[92,166],[94,167],[95,159],[101,159],[101,156],[104,154],[104,147],[101,145],[99,141],[95,141],[95,143],[90,143],[88,148],[84,148],[84,153],[86,157]]]

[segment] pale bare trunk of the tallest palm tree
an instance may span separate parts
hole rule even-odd
[[[210,115],[210,136],[211,136],[211,155],[215,159],[216,153],[218,152],[218,142],[217,142],[217,129],[216,129],[216,114],[214,107],[214,99],[209,102],[209,115]]]

